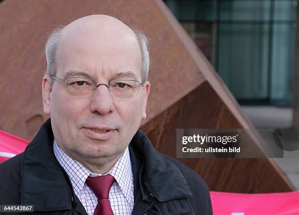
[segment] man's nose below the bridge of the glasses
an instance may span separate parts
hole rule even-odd
[[[101,115],[114,111],[113,99],[106,85],[98,85],[91,95],[90,111],[98,112]]]

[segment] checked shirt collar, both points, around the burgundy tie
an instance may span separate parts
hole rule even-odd
[[[81,195],[81,191],[88,176],[102,176],[101,174],[92,173],[80,162],[66,155],[66,153],[58,146],[55,140],[53,149],[54,155],[56,156],[58,162],[69,176],[74,192],[77,196]],[[127,201],[133,201],[131,195],[131,192],[133,193],[133,173],[128,147],[123,155],[117,160],[115,165],[111,168],[111,170],[107,172],[107,174],[115,178]]]

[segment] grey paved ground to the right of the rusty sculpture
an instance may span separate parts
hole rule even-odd
[[[256,128],[292,128],[292,108],[275,106],[241,106]],[[276,158],[278,165],[299,190],[299,158]]]

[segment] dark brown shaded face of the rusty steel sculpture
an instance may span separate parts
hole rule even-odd
[[[208,82],[204,82],[142,127],[153,145],[175,157],[176,128],[242,128]],[[250,144],[251,139],[248,138]],[[252,150],[256,145],[252,144]],[[269,193],[295,190],[266,158],[181,158],[207,182],[210,190]],[[282,182],[285,179],[284,182]]]

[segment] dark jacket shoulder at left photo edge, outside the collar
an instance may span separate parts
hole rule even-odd
[[[0,163],[0,204],[20,204],[23,153]]]

